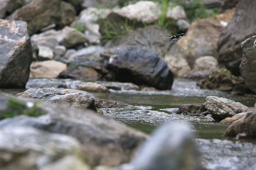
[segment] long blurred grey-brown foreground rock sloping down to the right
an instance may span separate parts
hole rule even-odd
[[[93,110],[70,109],[45,102],[38,103],[37,108],[45,115],[4,119],[0,121],[0,129],[34,127],[47,133],[72,136],[82,144],[80,151],[91,166],[116,166],[128,162],[137,147],[147,138],[143,132]],[[43,139],[47,140],[45,136]],[[66,145],[60,146],[66,148]]]

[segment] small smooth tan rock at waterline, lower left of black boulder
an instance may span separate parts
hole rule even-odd
[[[94,82],[82,83],[78,85],[75,89],[85,92],[110,93],[110,90],[106,86]]]

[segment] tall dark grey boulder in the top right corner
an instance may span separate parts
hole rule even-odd
[[[239,65],[242,59],[240,43],[256,34],[255,7],[255,0],[240,0],[233,18],[219,35],[218,61],[235,76],[240,75]]]

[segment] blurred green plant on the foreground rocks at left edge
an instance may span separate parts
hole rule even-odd
[[[37,109],[39,102],[23,102],[15,97],[10,97],[6,103],[7,109],[1,111],[0,119],[18,115],[40,116],[42,112]]]

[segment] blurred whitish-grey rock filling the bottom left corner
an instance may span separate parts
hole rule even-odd
[[[26,118],[21,116],[20,119]],[[81,150],[79,141],[71,136],[32,127],[1,126],[0,129],[1,170],[17,167],[19,170],[38,170],[65,155],[81,157]]]

